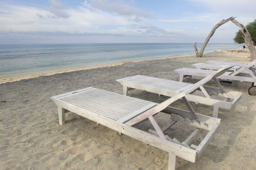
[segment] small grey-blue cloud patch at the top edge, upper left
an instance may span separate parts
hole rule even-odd
[[[68,18],[69,15],[66,13],[65,8],[63,7],[61,1],[57,0],[50,0],[51,7],[50,10],[51,13],[56,15],[56,17],[61,17],[61,18]]]

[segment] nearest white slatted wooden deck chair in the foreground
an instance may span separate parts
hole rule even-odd
[[[187,94],[201,87],[213,76],[216,74],[207,76],[160,104],[93,87],[53,96],[51,99],[58,106],[61,125],[65,123],[65,112],[72,111],[81,117],[168,152],[168,169],[175,169],[176,156],[189,162],[195,162],[202,155],[220,125],[220,119],[195,113],[189,104],[189,111],[172,108],[169,105],[181,98],[186,100]],[[182,122],[191,125],[195,130],[184,141],[170,138],[164,134],[165,129],[161,129],[154,118],[154,115],[160,111],[170,115],[171,125],[175,122]],[[155,129],[152,133],[132,127],[147,118]],[[195,145],[196,136],[204,134],[203,131],[206,132],[206,135],[203,136],[199,144]]]

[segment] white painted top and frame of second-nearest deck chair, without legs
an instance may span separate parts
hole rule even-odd
[[[139,89],[139,90],[146,90],[148,92],[153,92],[156,94],[161,94],[161,95],[170,96],[170,97],[179,94],[179,92],[182,92],[183,90],[188,89],[193,85],[191,83],[184,83],[184,82],[173,81],[173,80],[164,80],[161,78],[154,78],[150,76],[141,76],[141,75],[132,76],[131,78],[124,78],[116,81],[121,83],[124,87],[129,87],[132,89]],[[207,81],[204,81],[204,83],[206,82]],[[202,85],[204,85],[204,83],[202,83]],[[202,85],[200,86],[200,89],[202,90],[202,92],[205,94],[206,97],[197,96],[193,94],[186,94],[186,99],[188,99],[188,101],[192,101],[195,103],[230,109],[232,108],[232,106],[234,106],[234,104],[236,104],[234,103],[232,105],[232,100],[237,99],[238,101],[242,95],[241,92],[233,93],[232,91],[226,90],[225,93],[223,93],[220,90],[214,89],[214,88],[208,88],[208,87],[202,88]],[[215,91],[216,93],[218,93],[219,96],[228,97],[231,100],[225,101],[225,100],[211,99],[211,97],[207,95],[206,90]]]

